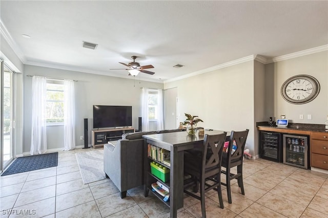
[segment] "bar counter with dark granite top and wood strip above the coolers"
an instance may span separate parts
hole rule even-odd
[[[310,135],[311,132],[325,132],[324,124],[308,124],[308,123],[289,123],[288,127],[277,127],[276,125],[270,126],[268,122],[257,122],[258,130],[279,132],[279,133],[292,133]]]

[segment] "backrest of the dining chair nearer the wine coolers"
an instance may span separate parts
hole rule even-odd
[[[229,146],[227,150],[228,156],[230,156],[228,158],[229,162],[236,161],[239,159],[242,160],[248,132],[249,129],[240,132],[236,132],[236,131],[231,132]],[[233,147],[235,147],[235,149]]]

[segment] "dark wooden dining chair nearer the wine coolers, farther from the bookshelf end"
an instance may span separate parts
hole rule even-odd
[[[229,204],[232,203],[230,185],[231,180],[237,179],[238,186],[241,189],[241,194],[245,195],[242,181],[242,163],[248,132],[249,129],[240,132],[232,131],[229,138],[229,146],[227,152],[222,152],[222,167],[226,168],[226,170],[221,170],[221,172],[226,175],[226,183],[221,182],[221,184],[227,187]],[[237,166],[237,174],[234,174],[230,171],[231,168],[235,166]]]

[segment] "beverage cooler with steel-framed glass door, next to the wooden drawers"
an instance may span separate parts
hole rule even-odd
[[[283,135],[283,163],[300,168],[309,168],[309,137]]]

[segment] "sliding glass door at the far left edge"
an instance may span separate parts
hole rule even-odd
[[[2,169],[13,159],[13,72],[1,64],[2,72]]]

